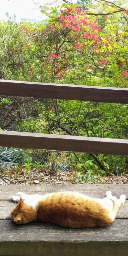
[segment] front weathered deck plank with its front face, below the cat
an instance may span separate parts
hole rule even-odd
[[[0,220],[0,255],[126,256],[127,231],[127,220],[93,229],[65,229],[47,223],[17,226],[11,220]]]

